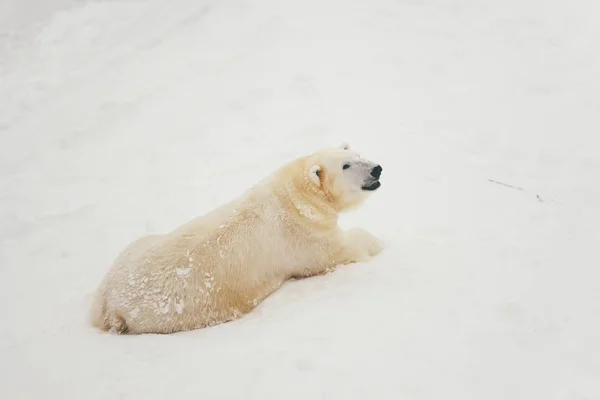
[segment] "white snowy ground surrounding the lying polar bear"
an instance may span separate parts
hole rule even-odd
[[[600,399],[597,1],[2,3],[0,398]],[[87,325],[129,241],[342,141],[376,260]]]

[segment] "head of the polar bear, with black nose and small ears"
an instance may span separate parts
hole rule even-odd
[[[381,186],[381,165],[361,158],[347,144],[317,152],[307,161],[308,180],[338,211],[359,205]]]

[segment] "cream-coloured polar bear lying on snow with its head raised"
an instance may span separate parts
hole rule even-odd
[[[338,215],[379,188],[381,171],[347,145],[326,149],[169,234],[135,241],[100,284],[92,324],[122,334],[208,327],[245,315],[289,279],[369,260],[382,242],[342,231]]]

